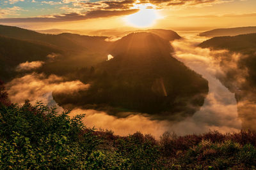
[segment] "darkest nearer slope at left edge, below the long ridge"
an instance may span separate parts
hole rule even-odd
[[[22,62],[46,60],[50,53],[63,53],[54,46],[0,36],[0,77],[7,81],[15,74],[15,67]]]

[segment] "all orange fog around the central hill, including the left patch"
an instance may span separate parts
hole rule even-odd
[[[159,138],[166,131],[175,132],[179,135],[198,134],[214,130],[223,133],[240,131],[241,120],[237,116],[235,96],[216,78],[216,75],[225,74],[221,71],[220,60],[216,56],[227,55],[227,51],[198,48],[195,46],[202,42],[203,38],[192,34],[181,36],[184,38],[172,42],[175,49],[172,54],[173,57],[184,62],[186,66],[196,73],[202,74],[209,81],[209,94],[205,99],[204,106],[193,117],[177,123],[168,120],[151,120],[148,115],[142,113],[136,115],[130,113],[129,117],[117,118],[104,111],[83,110],[81,108],[75,108],[70,115],[85,113],[86,117],[83,121],[87,127],[112,130],[121,136],[137,131],[143,134],[150,133],[156,138]],[[50,106],[56,105],[52,98],[52,92],[74,95],[89,87],[89,84],[84,84],[79,80],[67,81],[65,78],[53,74],[45,76],[38,73],[26,74],[6,84],[6,89],[13,103],[22,104],[24,99],[29,99],[31,103],[42,101]],[[60,106],[57,105],[57,107],[59,111],[63,111]]]

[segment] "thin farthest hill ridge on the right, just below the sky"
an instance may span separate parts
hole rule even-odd
[[[214,36],[237,36],[239,34],[255,33],[256,27],[236,27],[227,29],[213,29],[211,31],[202,32],[200,36],[214,37]]]

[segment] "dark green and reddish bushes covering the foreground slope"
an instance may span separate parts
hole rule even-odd
[[[255,132],[121,137],[83,117],[11,104],[1,84],[0,169],[255,169]]]

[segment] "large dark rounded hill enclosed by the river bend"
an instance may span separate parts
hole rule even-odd
[[[90,89],[73,96],[54,94],[61,106],[148,113],[152,118],[182,120],[204,104],[207,80],[170,55],[169,41],[148,32],[132,33],[111,45],[113,59],[83,71]]]

